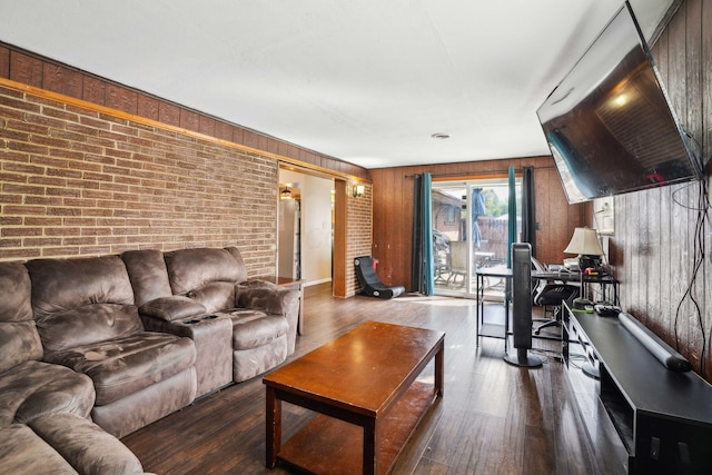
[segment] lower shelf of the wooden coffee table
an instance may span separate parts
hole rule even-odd
[[[415,382],[379,423],[380,474],[388,473],[436,398],[433,385]],[[319,414],[281,446],[277,457],[309,473],[353,475],[364,472],[363,439],[363,427]]]

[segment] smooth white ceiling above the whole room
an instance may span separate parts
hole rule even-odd
[[[672,1],[631,3],[650,33]],[[0,41],[378,168],[548,155],[536,109],[621,6],[0,0]]]

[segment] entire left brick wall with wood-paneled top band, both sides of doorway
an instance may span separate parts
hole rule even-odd
[[[0,78],[63,96],[0,87],[0,260],[236,245],[249,276],[274,274],[280,160],[369,180],[362,167],[1,42]],[[370,254],[372,196],[367,186],[348,198],[349,296],[353,257]]]

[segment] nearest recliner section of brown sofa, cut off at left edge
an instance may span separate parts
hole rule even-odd
[[[91,379],[40,362],[42,353],[28,270],[0,263],[0,473],[142,473],[120,441],[89,420]]]

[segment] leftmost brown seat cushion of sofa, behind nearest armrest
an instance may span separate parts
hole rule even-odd
[[[93,402],[91,379],[63,366],[31,360],[0,374],[0,426],[60,412],[87,417]]]

